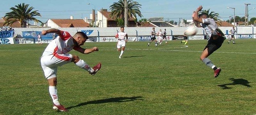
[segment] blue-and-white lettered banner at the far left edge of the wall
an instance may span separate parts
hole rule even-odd
[[[13,30],[0,31],[0,44],[14,44],[13,42]]]

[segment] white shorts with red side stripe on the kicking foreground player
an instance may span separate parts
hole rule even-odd
[[[58,58],[57,58],[58,57]],[[57,54],[41,57],[41,66],[46,79],[57,77],[57,67],[72,61],[71,54]]]

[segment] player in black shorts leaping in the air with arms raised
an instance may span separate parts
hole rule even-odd
[[[218,28],[215,21],[208,17],[207,13],[201,13],[198,15],[198,12],[202,10],[202,6],[199,6],[196,11],[192,14],[192,19],[197,27],[202,27],[206,31],[206,37],[208,39],[208,44],[204,48],[200,59],[207,66],[211,67],[214,70],[214,77],[218,77],[221,72],[221,68],[216,67],[210,59],[207,57],[211,55],[214,51],[219,49],[226,39],[223,32]]]

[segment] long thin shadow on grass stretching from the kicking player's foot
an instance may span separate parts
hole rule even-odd
[[[137,97],[115,97],[115,98],[108,98],[108,99],[100,99],[100,100],[93,100],[89,102],[84,102],[75,106],[67,107],[67,109],[70,108],[75,108],[75,107],[80,107],[88,104],[103,104],[103,103],[110,103],[110,102],[129,102],[129,101],[134,101],[134,100],[143,100],[139,99],[142,98],[141,96]]]

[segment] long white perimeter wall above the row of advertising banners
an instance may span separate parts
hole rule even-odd
[[[172,30],[172,35],[183,35],[184,30],[186,27],[156,27],[155,31],[156,33],[159,31],[159,29],[164,29],[166,28],[167,35],[171,35],[171,30]],[[219,27],[224,34],[226,34],[226,30],[231,30],[232,27]],[[47,30],[50,28],[14,28],[15,35],[14,36],[22,36],[22,31],[42,31],[42,30]],[[71,35],[74,35],[77,31],[80,30],[94,30],[93,33],[89,36],[98,36],[98,31],[99,31],[99,36],[105,37],[105,36],[115,36],[117,33],[117,30],[120,31],[119,27],[112,27],[112,28],[56,28],[59,30],[64,30],[68,31]],[[149,36],[152,30],[152,27],[127,27],[125,28],[124,31],[128,33],[128,36],[136,36],[136,30],[138,33],[138,36]],[[238,34],[256,34],[256,27],[253,26],[238,26],[237,27],[237,33]],[[230,33],[228,33],[230,34]],[[197,35],[203,35],[203,29],[198,28]]]

